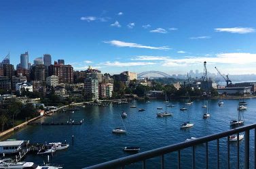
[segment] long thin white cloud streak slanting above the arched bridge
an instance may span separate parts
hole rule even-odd
[[[136,47],[136,48],[145,48],[145,49],[159,49],[159,50],[168,50],[170,49],[169,47],[163,46],[163,47],[151,47],[151,46],[145,46],[145,45],[140,45],[137,43],[127,43],[124,41],[105,41],[104,43],[109,43],[111,45],[114,45],[116,47]]]

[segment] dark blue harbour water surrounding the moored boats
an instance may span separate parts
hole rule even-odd
[[[10,135],[12,139],[29,139],[31,143],[67,141],[69,149],[57,151],[50,158],[50,163],[62,164],[64,168],[84,168],[100,162],[107,162],[115,158],[121,158],[128,153],[122,151],[125,146],[139,146],[141,151],[147,151],[173,143],[185,141],[190,137],[202,137],[230,129],[229,121],[238,118],[238,99],[225,99],[224,105],[219,107],[218,100],[213,99],[208,103],[211,117],[204,120],[202,115],[206,109],[202,108],[204,100],[196,100],[193,105],[187,105],[187,111],[179,109],[185,101],[174,101],[176,107],[168,108],[173,112],[173,117],[156,118],[156,107],[165,106],[164,101],[151,101],[145,103],[136,101],[136,108],[126,105],[109,105],[107,107],[87,106],[75,113],[57,113],[52,117],[41,119],[41,122],[66,122],[68,119],[81,120],[81,126],[26,126],[18,132]],[[248,109],[243,113],[245,124],[253,124],[256,121],[255,99],[246,99]],[[138,108],[144,108],[145,112],[138,112]],[[111,131],[115,127],[122,127],[120,114],[125,111],[128,117],[124,119],[127,129],[125,135],[115,135]],[[194,127],[181,130],[182,122],[190,121]],[[253,133],[251,132],[251,135]],[[72,145],[72,135],[74,143]],[[8,139],[4,138],[4,139]],[[253,136],[251,136],[253,138]],[[242,153],[244,141],[240,142],[240,166],[242,167]],[[251,141],[251,149],[254,142]],[[221,168],[227,168],[227,140],[220,140]],[[231,143],[231,167],[236,167],[236,143]],[[216,168],[217,147],[216,141],[209,143],[209,168]],[[251,151],[253,155],[253,151]],[[24,161],[42,164],[47,161],[46,155],[27,155]],[[191,148],[181,151],[181,167],[191,168]],[[251,160],[253,164],[253,160]],[[177,152],[165,156],[166,168],[177,168]],[[205,145],[196,147],[196,168],[205,168]],[[141,163],[132,164],[128,168],[141,168]],[[147,160],[147,168],[160,168],[160,158]]]

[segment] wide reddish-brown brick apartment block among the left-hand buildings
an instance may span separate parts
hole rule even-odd
[[[73,67],[71,65],[62,65],[54,62],[54,65],[48,68],[49,76],[58,76],[59,83],[73,83]]]

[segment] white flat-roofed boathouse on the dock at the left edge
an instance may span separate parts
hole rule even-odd
[[[0,153],[17,153],[24,141],[0,141]]]

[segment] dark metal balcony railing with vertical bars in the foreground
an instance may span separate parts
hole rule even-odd
[[[153,149],[149,151],[145,151],[142,153],[137,153],[134,155],[129,155],[124,158],[119,158],[116,160],[111,160],[109,162],[104,162],[102,164],[96,164],[94,166],[87,167],[86,169],[100,169],[100,168],[124,168],[125,166],[128,166],[129,164],[134,164],[136,162],[142,162],[142,168],[146,168],[146,160],[149,160],[151,158],[160,157],[160,166],[161,169],[164,169],[164,155],[167,153],[172,153],[175,151],[178,151],[178,168],[181,168],[181,149],[186,149],[188,147],[192,147],[192,168],[196,168],[196,162],[195,162],[195,147],[196,145],[200,145],[202,143],[205,144],[206,147],[206,157],[205,157],[205,163],[206,168],[208,168],[208,142],[209,141],[217,141],[217,168],[220,168],[220,158],[219,158],[219,139],[227,138],[227,168],[230,168],[230,136],[236,135],[237,137],[237,154],[236,154],[236,168],[239,168],[240,166],[240,145],[239,145],[239,133],[244,132],[244,166],[243,168],[249,168],[249,139],[250,139],[250,130],[254,129],[254,154],[253,160],[254,167],[256,167],[256,124],[251,124],[249,126],[242,126],[240,128],[234,128],[232,130],[227,130],[225,132],[220,132],[218,134],[214,135],[208,135],[206,137],[200,137],[198,139],[193,139],[191,141],[184,141],[181,143],[168,145],[166,147],[160,147],[158,149]]]

